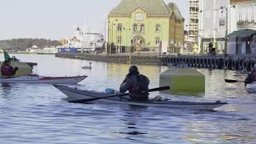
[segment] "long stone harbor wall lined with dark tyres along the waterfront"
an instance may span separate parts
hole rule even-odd
[[[58,58],[75,58],[88,61],[128,63],[155,66],[186,65],[195,68],[250,71],[256,65],[256,55],[147,55],[147,54],[70,54],[57,53]]]

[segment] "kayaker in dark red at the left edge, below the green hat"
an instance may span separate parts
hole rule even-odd
[[[6,76],[6,77],[13,76],[13,75],[16,74],[17,70],[18,70],[17,66],[15,66],[14,68],[13,68],[13,66],[10,66],[10,60],[9,61],[4,61],[2,63],[2,66],[1,66],[2,76]]]

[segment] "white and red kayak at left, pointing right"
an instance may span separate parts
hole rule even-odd
[[[19,77],[0,78],[0,82],[76,84],[85,78],[87,78],[86,75],[74,77],[43,77],[37,74],[31,74]]]

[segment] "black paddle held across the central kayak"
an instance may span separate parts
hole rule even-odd
[[[149,92],[152,92],[152,91],[159,91],[159,90],[170,90],[170,86],[163,86],[163,87],[158,87],[158,88],[150,89]],[[125,95],[129,95],[129,94],[128,94],[128,93],[125,93],[125,94],[115,94],[115,95],[110,95],[110,96],[105,96],[105,97],[86,98],[86,99],[75,100],[75,101],[70,101],[70,102],[74,102],[74,103],[85,103],[85,102],[95,101],[95,100],[98,100],[98,99],[113,98],[113,97],[122,97],[122,96],[125,96]]]

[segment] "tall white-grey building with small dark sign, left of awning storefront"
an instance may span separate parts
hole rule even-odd
[[[208,52],[212,42],[218,53],[225,50],[229,0],[200,0],[198,17],[198,46],[203,53]]]

